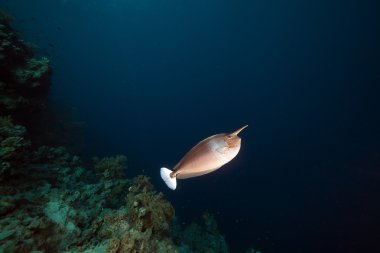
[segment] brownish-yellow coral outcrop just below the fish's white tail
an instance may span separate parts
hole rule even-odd
[[[145,176],[137,176],[128,187],[126,204],[105,210],[94,220],[91,236],[80,244],[80,251],[178,252],[170,237],[169,224],[174,208],[156,193]],[[138,203],[138,204],[135,204]],[[144,211],[142,211],[144,210]],[[79,245],[78,245],[79,246]]]

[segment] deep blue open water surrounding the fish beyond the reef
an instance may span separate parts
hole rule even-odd
[[[0,7],[50,59],[49,101],[79,122],[84,160],[125,154],[183,222],[214,214],[231,252],[380,252],[378,1]],[[161,166],[245,124],[232,162],[166,187]]]

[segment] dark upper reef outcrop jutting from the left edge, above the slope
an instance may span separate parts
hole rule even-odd
[[[34,46],[25,43],[0,13],[0,113],[38,110],[46,103],[52,69],[45,57],[34,58]]]

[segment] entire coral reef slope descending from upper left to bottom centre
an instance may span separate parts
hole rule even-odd
[[[125,177],[125,156],[84,168],[64,147],[32,145],[35,116],[50,85],[46,58],[0,12],[0,252],[228,252],[210,214],[182,227],[174,207],[144,175]]]

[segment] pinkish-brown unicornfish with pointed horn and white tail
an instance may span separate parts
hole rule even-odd
[[[210,136],[195,145],[173,170],[162,167],[160,174],[166,185],[175,190],[177,179],[202,176],[230,162],[240,150],[238,134],[248,125],[230,133]]]

